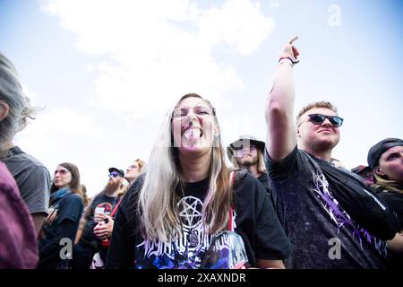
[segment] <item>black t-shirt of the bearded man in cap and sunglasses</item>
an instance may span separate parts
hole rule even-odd
[[[106,196],[104,193],[94,198],[92,204],[88,207],[90,208],[90,214],[82,229],[81,241],[93,248],[99,248],[100,240],[94,234],[94,227],[98,224],[94,222],[94,214],[98,212],[110,215],[115,204],[116,197]]]

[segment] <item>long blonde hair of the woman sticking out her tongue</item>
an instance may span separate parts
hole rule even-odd
[[[194,93],[184,95],[177,101],[176,106],[186,98],[199,98],[213,109],[208,100]],[[138,201],[141,232],[145,239],[151,241],[167,242],[180,231],[181,226],[176,210],[180,200],[176,188],[183,186],[184,180],[181,179],[178,151],[172,135],[172,115],[175,107],[168,111],[159,130],[150,153],[148,170]],[[214,109],[213,117],[219,128]],[[229,170],[224,161],[225,153],[219,135],[214,137],[211,149],[210,185],[201,211],[204,228],[210,234],[225,228],[232,202]]]

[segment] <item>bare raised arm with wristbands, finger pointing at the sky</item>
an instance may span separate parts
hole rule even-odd
[[[298,38],[290,39],[280,53],[280,58],[283,59],[279,62],[273,87],[266,101],[266,148],[272,161],[284,159],[296,147],[293,64],[299,53],[292,46],[296,39]]]

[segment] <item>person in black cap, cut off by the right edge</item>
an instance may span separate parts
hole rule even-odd
[[[388,241],[388,250],[394,267],[403,268],[403,140],[390,137],[373,145],[368,165],[373,189],[398,214],[400,231]]]

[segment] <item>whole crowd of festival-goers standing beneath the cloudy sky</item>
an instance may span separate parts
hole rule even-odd
[[[0,268],[402,268],[403,140],[374,143],[353,170],[332,158],[338,109],[314,102],[294,119],[295,41],[266,100],[265,142],[241,135],[225,149],[216,109],[189,93],[147,164],[109,168],[90,200],[76,165],[51,177],[13,144],[35,109],[0,54]]]

